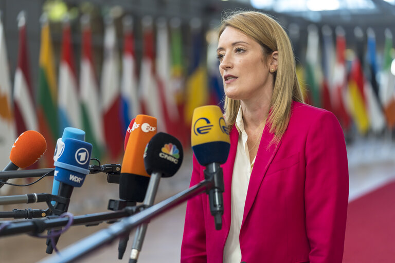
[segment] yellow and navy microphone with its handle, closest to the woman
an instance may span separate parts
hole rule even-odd
[[[218,106],[197,107],[192,116],[192,151],[203,166],[206,180],[213,185],[208,190],[210,212],[214,216],[216,229],[222,228],[224,213],[224,178],[220,164],[226,162],[230,149],[229,132],[222,111]]]

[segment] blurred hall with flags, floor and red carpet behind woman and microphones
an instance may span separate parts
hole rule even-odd
[[[185,152],[181,171],[160,181],[156,202],[187,189],[193,109],[223,104],[216,28],[231,10],[276,18],[292,41],[307,103],[334,112],[343,127],[350,173],[344,262],[393,262],[394,0],[2,0],[0,167],[25,130],[47,141],[29,168],[53,167],[56,139],[70,126],[86,132],[101,163],[121,163],[127,127],[143,113],[156,117],[158,130],[177,137]],[[5,185],[0,195],[51,189],[48,177],[27,187]],[[118,185],[105,174],[89,175],[74,190],[69,212],[105,212],[117,198]],[[0,205],[0,211],[27,207],[46,208]],[[179,261],[184,213],[182,204],[151,221],[139,262]],[[58,248],[107,226],[72,227]],[[81,262],[117,261],[117,246]],[[0,237],[0,261],[38,261],[48,256],[45,247],[28,235]]]

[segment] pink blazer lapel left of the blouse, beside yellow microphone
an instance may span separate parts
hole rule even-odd
[[[230,227],[230,192],[231,192],[231,184],[232,184],[232,174],[233,174],[233,166],[235,164],[236,151],[237,151],[237,142],[239,139],[239,132],[237,128],[233,126],[230,131],[230,149],[228,159],[226,163],[222,165],[222,171],[224,174],[224,187],[225,191],[223,194],[224,198],[224,216],[223,216],[223,224],[229,229]]]

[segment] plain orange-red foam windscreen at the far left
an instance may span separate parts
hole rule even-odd
[[[11,148],[10,160],[16,166],[25,168],[37,162],[47,149],[44,137],[35,130],[23,132]]]

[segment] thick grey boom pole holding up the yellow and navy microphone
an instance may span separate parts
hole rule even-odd
[[[117,222],[109,228],[100,230],[93,235],[90,235],[81,241],[68,246],[61,251],[59,255],[53,255],[46,260],[40,261],[41,263],[66,263],[74,262],[98,248],[110,244],[114,239],[119,236],[128,234],[133,228],[139,226],[141,223],[148,222],[152,218],[165,213],[166,211],[174,208],[174,206],[181,204],[188,199],[201,194],[205,190],[211,189],[214,185],[214,180],[203,180],[189,189],[182,191],[172,197],[161,201],[150,208],[147,208],[140,213],[129,216],[120,222]],[[0,233],[1,236],[1,233]]]

